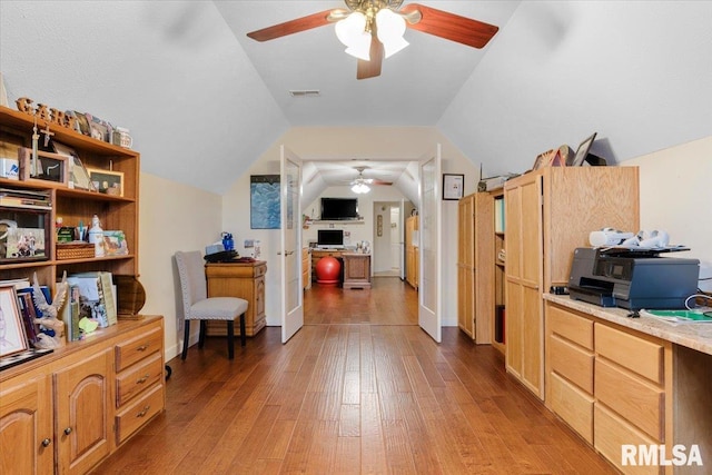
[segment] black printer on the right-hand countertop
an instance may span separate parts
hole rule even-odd
[[[689,250],[689,249],[681,249]],[[698,290],[700,260],[661,257],[660,250],[585,248],[574,250],[571,298],[602,307],[684,308]]]

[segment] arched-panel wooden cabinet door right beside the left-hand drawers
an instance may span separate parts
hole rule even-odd
[[[105,349],[55,374],[60,474],[86,473],[109,454],[110,366]]]

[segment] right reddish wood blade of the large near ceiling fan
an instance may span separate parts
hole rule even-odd
[[[416,11],[421,12],[421,20],[411,23],[413,17],[417,18],[417,14],[415,14]],[[400,10],[400,13],[404,13],[408,28],[473,48],[483,48],[500,30],[500,28],[494,24],[484,23],[418,3],[405,6]]]

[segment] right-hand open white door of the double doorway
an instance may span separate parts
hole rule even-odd
[[[441,145],[421,161],[418,325],[442,340]]]

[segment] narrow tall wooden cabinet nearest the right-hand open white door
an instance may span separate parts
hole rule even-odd
[[[487,192],[458,202],[457,324],[475,343],[492,342],[494,320],[494,209]]]

